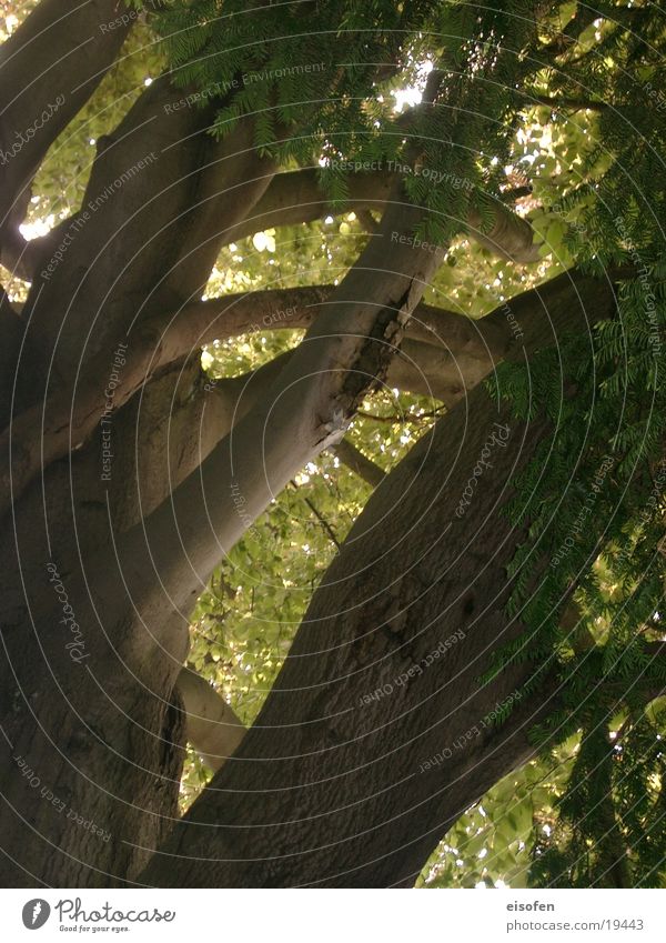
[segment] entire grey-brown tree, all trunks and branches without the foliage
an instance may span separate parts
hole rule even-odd
[[[528,672],[477,684],[521,631],[504,614],[521,534],[498,510],[545,430],[513,423],[481,389],[461,398],[498,359],[577,325],[581,308],[603,317],[612,292],[567,273],[543,289],[543,310],[539,292],[512,300],[524,347],[504,309],[476,324],[424,308],[398,360],[443,251],[396,239],[424,211],[390,174],[353,174],[344,208],[383,219],[340,284],[301,290],[321,309],[301,311],[305,341],[248,388],[208,384],[199,345],[281,303],[250,295],[239,318],[229,299],[202,302],[220,247],[329,203],[316,168],[278,173],[260,156],[250,116],[218,141],[220,101],[173,108],[183,90],[162,76],[98,140],[80,210],[27,244],[34,171],[118,57],[128,10],[42,0],[0,53],[3,154],[52,112],[12,154],[0,194],[1,258],[31,281],[20,317],[0,299],[0,883],[406,886],[457,815],[529,755],[548,694],[518,701],[502,729],[483,723]],[[72,44],[84,48],[64,54]],[[467,222],[492,251],[535,258],[529,224],[507,208],[487,230]],[[259,722],[179,824],[192,603],[383,380],[457,405],[393,474],[361,462],[380,482],[371,503]]]

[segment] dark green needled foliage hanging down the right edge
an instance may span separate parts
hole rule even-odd
[[[637,81],[660,72],[648,40],[663,40],[664,21],[642,9],[634,33],[637,11],[603,11],[608,19],[586,28],[573,67],[548,77],[551,96],[585,89],[609,106],[594,119],[594,144],[576,149],[576,179],[558,173],[543,190],[554,202],[542,232],[549,239],[555,228],[566,258],[617,283],[617,313],[527,365],[501,367],[488,384],[517,418],[553,429],[507,508],[516,526],[528,525],[508,573],[508,612],[526,631],[494,671],[529,659],[535,688],[555,670],[562,710],[535,734],[548,744],[582,731],[557,827],[534,845],[531,879],[557,886],[664,879],[664,716],[650,718],[646,703],[666,678],[655,654],[664,635],[666,149],[664,117],[646,108]],[[563,618],[572,603],[574,629]],[[608,728],[618,712],[622,744]]]

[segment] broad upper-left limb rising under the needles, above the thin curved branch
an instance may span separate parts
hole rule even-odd
[[[174,109],[181,99],[169,76],[141,94],[99,142],[81,212],[57,228],[60,248],[42,247],[24,311],[32,402],[43,395],[36,375],[71,391],[132,324],[200,297],[225,227],[270,183],[250,120],[216,142],[215,104]]]

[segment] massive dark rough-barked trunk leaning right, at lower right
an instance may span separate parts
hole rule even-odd
[[[478,388],[382,482],[258,721],[142,880],[410,886],[456,817],[525,762],[548,692],[518,699],[528,663],[478,676],[522,631],[504,606],[523,534],[502,505],[546,433]],[[509,703],[505,725],[484,725]]]

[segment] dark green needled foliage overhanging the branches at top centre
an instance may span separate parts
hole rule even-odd
[[[333,202],[350,169],[394,173],[432,211],[418,234],[447,243],[471,204],[494,220],[521,117],[512,89],[536,72],[533,13],[527,2],[170,0],[153,27],[173,81],[218,104],[212,133],[251,116],[259,151],[319,167]],[[394,102],[407,86],[433,107],[405,126]]]

